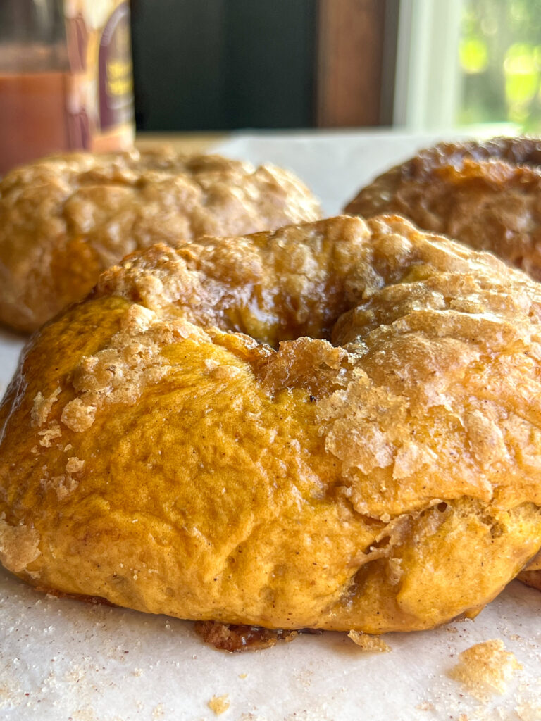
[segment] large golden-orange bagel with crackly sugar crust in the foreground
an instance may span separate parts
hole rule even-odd
[[[137,252],[27,345],[1,561],[184,619],[475,614],[541,546],[540,320],[541,285],[396,216]]]

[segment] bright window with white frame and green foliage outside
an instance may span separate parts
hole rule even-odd
[[[541,132],[541,0],[401,0],[394,120]]]

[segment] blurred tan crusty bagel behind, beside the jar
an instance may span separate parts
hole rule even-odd
[[[314,221],[281,168],[172,151],[53,156],[0,181],[0,322],[40,327],[138,248]]]

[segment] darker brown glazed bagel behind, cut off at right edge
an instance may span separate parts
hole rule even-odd
[[[377,177],[345,212],[400,213],[541,280],[541,139],[441,143]]]

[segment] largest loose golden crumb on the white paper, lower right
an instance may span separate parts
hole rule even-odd
[[[506,651],[499,638],[476,643],[459,654],[449,677],[460,681],[470,696],[484,701],[488,694],[503,694],[506,681],[522,665],[513,653]]]

